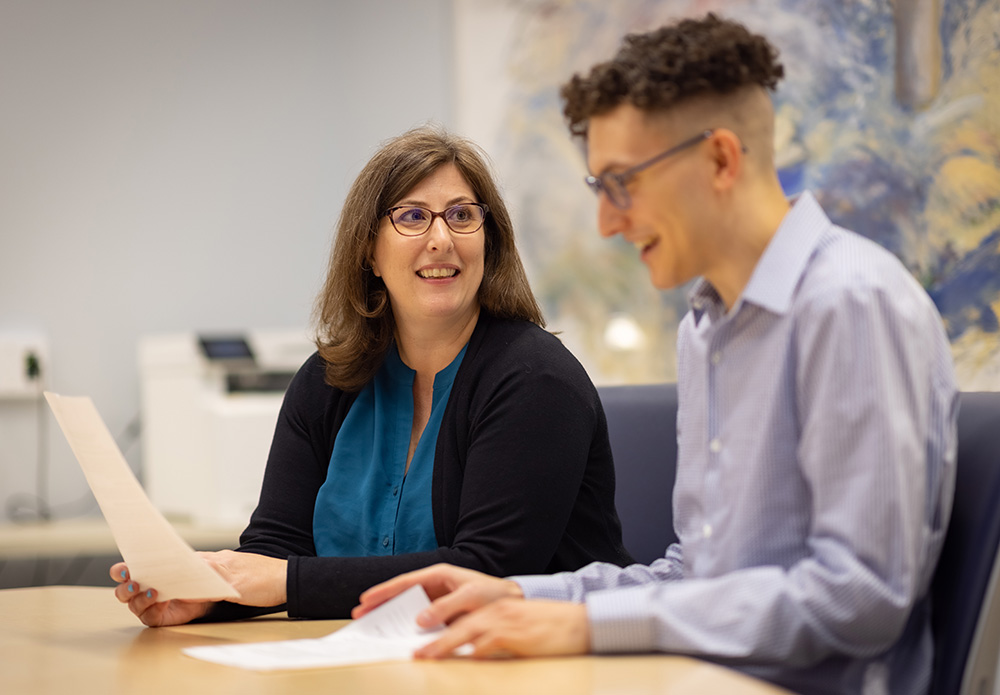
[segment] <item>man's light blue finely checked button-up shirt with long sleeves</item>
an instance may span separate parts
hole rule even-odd
[[[805,193],[726,312],[678,334],[680,542],[650,566],[518,577],[585,601],[595,652],[726,663],[800,693],[922,693],[951,511],[947,338],[899,261]]]

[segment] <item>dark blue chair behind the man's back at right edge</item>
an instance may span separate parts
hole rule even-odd
[[[994,692],[1000,655],[1000,393],[961,394],[955,502],[931,584],[932,695]]]

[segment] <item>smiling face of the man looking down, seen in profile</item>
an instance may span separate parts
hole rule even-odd
[[[624,104],[590,119],[587,165],[591,174],[622,172],[696,135],[706,124],[691,123],[674,132],[671,122]],[[705,142],[639,172],[627,185],[631,204],[615,206],[598,196],[601,235],[621,234],[634,244],[649,269],[650,281],[669,289],[705,274],[709,258],[698,231],[711,210],[711,158]]]

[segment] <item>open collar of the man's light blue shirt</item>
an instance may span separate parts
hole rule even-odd
[[[751,302],[777,314],[788,311],[795,287],[805,272],[820,236],[830,219],[816,198],[806,191],[791,200],[792,207],[757,261],[750,280],[736,304]],[[688,303],[697,323],[710,307],[722,305],[715,288],[699,278],[688,293]]]

